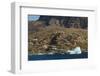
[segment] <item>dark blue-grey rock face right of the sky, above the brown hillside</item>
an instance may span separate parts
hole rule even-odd
[[[87,17],[64,17],[64,16],[40,16],[39,21],[44,21],[48,25],[60,25],[67,28],[87,28]]]

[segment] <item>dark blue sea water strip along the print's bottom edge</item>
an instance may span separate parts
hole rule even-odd
[[[80,59],[88,58],[88,53],[82,54],[53,54],[53,55],[28,55],[29,61],[34,60],[56,60],[56,59]]]

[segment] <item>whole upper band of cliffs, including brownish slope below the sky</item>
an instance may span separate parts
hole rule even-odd
[[[87,17],[63,17],[63,16],[40,16],[37,21],[28,22],[29,31],[38,30],[50,25],[57,25],[66,28],[88,28]]]

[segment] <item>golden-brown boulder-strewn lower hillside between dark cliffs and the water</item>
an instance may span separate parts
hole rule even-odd
[[[75,47],[87,51],[87,30],[63,27],[47,27],[37,32],[29,32],[29,52],[33,54],[67,52]],[[57,49],[55,51],[55,49]]]

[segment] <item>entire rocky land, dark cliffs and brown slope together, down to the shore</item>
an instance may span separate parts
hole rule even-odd
[[[66,53],[75,47],[88,51],[87,17],[40,16],[28,22],[28,51]]]

